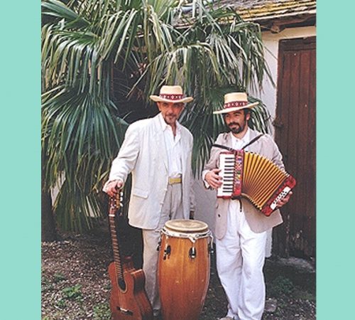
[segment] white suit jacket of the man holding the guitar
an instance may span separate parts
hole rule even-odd
[[[182,214],[188,219],[190,210],[195,210],[191,170],[193,138],[190,131],[183,126],[180,142]],[[132,173],[129,224],[136,228],[155,229],[158,227],[168,188],[168,155],[158,115],[139,120],[128,127],[119,154],[112,162],[109,181],[119,179],[126,182],[129,173]]]

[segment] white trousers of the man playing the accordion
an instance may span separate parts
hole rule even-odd
[[[239,201],[230,201],[227,230],[216,239],[217,272],[234,319],[260,320],[265,306],[266,232],[253,233]]]

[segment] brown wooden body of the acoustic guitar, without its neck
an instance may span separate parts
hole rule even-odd
[[[146,277],[144,277],[143,270],[134,269],[131,260],[126,260],[122,265],[124,282],[126,283],[124,290],[121,289],[117,281],[114,262],[109,265],[109,277],[112,285],[110,297],[112,319],[152,320],[153,309],[144,289]]]

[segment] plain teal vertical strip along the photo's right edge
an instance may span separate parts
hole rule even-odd
[[[354,7],[317,1],[317,320],[355,319]]]

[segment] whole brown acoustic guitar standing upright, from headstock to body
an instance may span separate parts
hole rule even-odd
[[[143,270],[133,267],[131,257],[119,252],[116,232],[116,215],[121,215],[121,193],[109,199],[109,224],[111,229],[114,262],[109,265],[111,279],[110,309],[114,320],[152,320],[153,309],[146,296]]]

